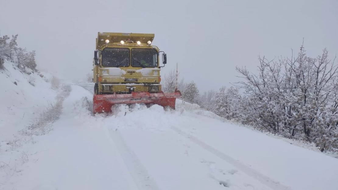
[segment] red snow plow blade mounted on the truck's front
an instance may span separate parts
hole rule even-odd
[[[149,93],[149,92],[131,92],[131,94],[99,94],[94,93],[93,112],[103,113],[111,112],[114,104],[158,104],[163,107],[171,107],[175,109],[176,98],[181,98],[182,94],[179,90],[173,93]]]

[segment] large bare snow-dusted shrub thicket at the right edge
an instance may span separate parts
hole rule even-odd
[[[315,142],[322,151],[337,151],[338,66],[329,59],[328,51],[324,49],[320,56],[311,58],[302,46],[291,59],[259,60],[258,75],[236,67],[244,79],[237,83],[244,96],[236,103],[240,106],[234,108],[241,122]],[[217,101],[217,109],[224,111],[228,102],[220,100],[223,103]]]

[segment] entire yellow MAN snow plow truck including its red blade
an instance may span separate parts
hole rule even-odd
[[[175,109],[182,94],[164,93],[160,70],[167,55],[152,45],[154,34],[98,32],[93,59],[93,112],[111,112],[114,104],[157,104]],[[162,63],[160,66],[160,53]]]

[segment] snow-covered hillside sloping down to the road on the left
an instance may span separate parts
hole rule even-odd
[[[23,72],[8,59],[0,80],[0,189],[7,189],[8,180],[21,175],[25,163],[33,161],[28,147],[52,130],[70,86],[60,85],[47,72],[29,68]]]

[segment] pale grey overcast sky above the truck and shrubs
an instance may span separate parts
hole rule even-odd
[[[337,0],[0,0],[1,35],[19,34],[39,69],[66,79],[91,73],[97,32],[154,33],[175,69],[200,91],[238,81],[235,66],[255,72],[258,55],[338,53]]]

